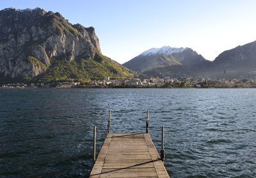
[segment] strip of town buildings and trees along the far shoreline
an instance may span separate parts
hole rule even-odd
[[[15,82],[0,84],[2,88],[255,88],[255,80],[237,78],[171,78],[148,77],[132,80],[110,79],[91,82],[53,81],[53,82]]]

